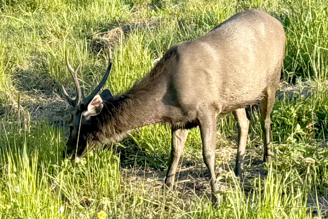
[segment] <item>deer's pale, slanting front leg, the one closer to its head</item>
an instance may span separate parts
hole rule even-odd
[[[187,129],[172,129],[171,131],[171,157],[169,161],[169,168],[166,173],[166,177],[164,180],[165,185],[169,188],[173,188],[174,178],[176,173],[176,168],[179,164],[180,156],[183,151],[183,148],[186,143],[186,139],[188,136]]]

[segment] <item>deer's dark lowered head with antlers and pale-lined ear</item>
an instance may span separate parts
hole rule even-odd
[[[110,60],[112,60],[111,54]],[[87,139],[88,133],[90,133],[90,129],[92,128],[92,117],[98,115],[104,106],[102,98],[97,93],[109,76],[112,62],[109,61],[109,66],[104,77],[88,97],[84,97],[84,90],[81,88],[77,78],[77,72],[81,67],[81,63],[74,70],[66,54],[66,65],[72,74],[76,86],[76,98],[72,99],[63,86],[65,98],[73,106],[72,117],[69,124],[70,135],[66,143],[66,149],[63,151],[63,157],[70,157],[78,162],[79,158],[83,157],[88,151]],[[106,95],[112,96],[109,90],[106,90]],[[89,148],[89,150],[91,150],[91,148]]]

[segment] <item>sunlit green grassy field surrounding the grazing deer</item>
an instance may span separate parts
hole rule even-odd
[[[64,63],[82,62],[92,90],[124,92],[170,46],[197,38],[245,9],[281,21],[286,58],[272,113],[273,162],[262,164],[253,108],[245,181],[233,169],[236,124],[218,118],[216,174],[222,200],[213,208],[198,129],[189,134],[176,188],[162,184],[170,128],[139,128],[122,142],[99,145],[72,164],[62,158],[69,93]],[[327,218],[327,0],[2,0],[0,1],[0,218]]]

